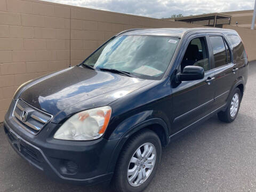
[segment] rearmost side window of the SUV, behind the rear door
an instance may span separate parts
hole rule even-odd
[[[234,60],[239,61],[246,58],[246,53],[244,50],[244,45],[237,35],[227,35],[228,41],[233,47]]]

